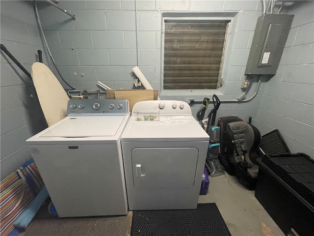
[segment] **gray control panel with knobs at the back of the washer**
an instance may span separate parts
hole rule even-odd
[[[129,114],[129,101],[120,99],[70,99],[69,116],[114,116]]]

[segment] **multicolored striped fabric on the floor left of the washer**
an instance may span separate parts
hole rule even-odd
[[[1,236],[7,236],[14,229],[15,220],[43,186],[43,180],[33,160],[26,162],[20,170],[0,182]]]

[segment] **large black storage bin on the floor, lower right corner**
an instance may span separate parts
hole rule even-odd
[[[314,161],[306,154],[265,155],[255,197],[281,230],[314,235]]]

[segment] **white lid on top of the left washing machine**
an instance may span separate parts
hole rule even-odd
[[[114,136],[124,117],[68,117],[40,137]]]

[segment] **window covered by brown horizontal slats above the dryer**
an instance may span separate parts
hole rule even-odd
[[[218,89],[230,20],[164,18],[163,89]]]

